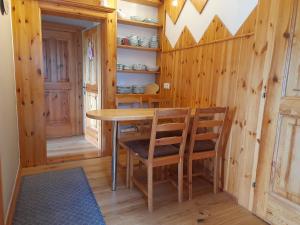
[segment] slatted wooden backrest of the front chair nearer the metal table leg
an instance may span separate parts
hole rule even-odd
[[[189,108],[155,109],[148,154],[149,161],[153,160],[157,146],[179,145],[179,156],[184,156],[190,114]],[[159,137],[158,134],[161,132],[167,135]]]

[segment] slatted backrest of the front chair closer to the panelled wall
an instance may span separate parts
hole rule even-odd
[[[196,109],[192,131],[189,153],[194,151],[197,141],[214,141],[215,151],[219,150],[219,141],[223,134],[228,107],[211,107]]]

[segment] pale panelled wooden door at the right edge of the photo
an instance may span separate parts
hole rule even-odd
[[[284,0],[279,10],[254,211],[271,224],[299,225],[300,4]]]

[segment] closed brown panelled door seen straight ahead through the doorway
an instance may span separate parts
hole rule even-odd
[[[79,32],[43,26],[47,138],[82,134],[80,42]]]

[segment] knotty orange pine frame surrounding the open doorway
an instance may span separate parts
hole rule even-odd
[[[78,3],[74,0],[12,1],[22,167],[47,164],[41,14],[99,21],[103,24],[102,107],[113,108],[116,84],[116,0],[110,0],[110,4],[113,8],[102,7],[91,1],[87,3]],[[102,130],[102,155],[108,155],[111,152],[111,124],[103,123]]]

